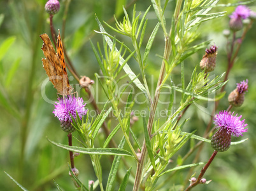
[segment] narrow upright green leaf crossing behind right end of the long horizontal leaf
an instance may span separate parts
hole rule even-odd
[[[118,145],[118,148],[124,148],[125,144],[125,137],[123,136],[120,144]],[[108,183],[106,185],[106,191],[111,191],[113,190],[113,185],[115,181],[115,177],[117,176],[117,171],[119,168],[120,160],[122,156],[115,156],[114,161],[112,162],[112,167],[110,170],[110,175],[108,176]]]

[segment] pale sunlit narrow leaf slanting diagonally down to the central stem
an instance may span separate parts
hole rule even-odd
[[[96,16],[96,21],[99,25],[99,29],[101,30],[101,32],[104,32],[106,33],[105,29],[103,28],[103,25],[101,25],[101,22],[99,22],[99,19],[97,18]],[[110,39],[110,37],[106,36],[106,35],[103,35],[106,43],[108,43],[108,46],[110,47],[110,49],[113,47],[113,43]],[[118,49],[116,48],[116,51],[118,51]],[[122,56],[120,56],[120,62],[119,64],[122,65],[124,63],[124,58],[122,58]],[[136,78],[136,75],[134,74],[134,72],[132,72],[131,68],[129,67],[129,65],[127,63],[125,63],[124,67],[123,67],[125,73],[129,76],[129,78],[131,80],[134,80],[134,84],[143,92],[145,92],[145,95],[146,95],[146,89],[145,87],[143,86],[143,84],[141,84],[141,82],[139,81],[138,78]]]

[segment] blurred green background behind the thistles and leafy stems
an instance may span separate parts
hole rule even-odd
[[[55,29],[60,29],[60,32],[65,4],[68,2],[60,1],[60,11],[53,17]],[[42,91],[45,91],[50,100],[57,99],[56,91],[50,82],[47,83],[45,89],[41,89],[47,76],[41,63],[41,58],[44,56],[40,49],[43,42],[39,35],[47,33],[50,36],[48,14],[44,10],[45,3],[46,1],[43,0],[0,1],[0,190],[20,190],[6,176],[4,171],[29,190],[57,190],[53,180],[57,181],[64,190],[75,190],[73,182],[68,175],[68,151],[57,148],[46,140],[47,136],[54,142],[68,143],[66,133],[60,129],[59,121],[52,114],[53,105],[47,103],[41,94]],[[131,14],[134,3],[136,3],[136,10],[143,13],[150,6],[151,1],[71,1],[66,18],[65,38],[62,41],[64,41],[68,54],[81,76],[89,76],[95,80],[94,73],[99,73],[99,66],[89,42],[89,39],[91,39],[94,44],[98,41],[99,44],[102,44],[101,34],[94,32],[94,30],[99,30],[94,15],[96,14],[101,22],[104,20],[114,26],[113,15],[115,14],[120,21],[124,16],[122,15],[122,4],[125,4],[127,12]],[[220,3],[230,3],[230,1],[220,1]],[[251,10],[256,11],[255,3],[248,6]],[[173,10],[174,2],[171,1],[166,10],[167,25],[169,27]],[[199,32],[201,35],[197,43],[212,39],[211,44],[215,43],[219,46],[217,67],[214,72],[211,72],[211,75],[220,75],[227,68],[226,41],[222,31],[228,29],[229,15],[234,11],[234,7],[215,8],[213,11],[227,11],[227,15],[203,23],[200,27]],[[153,8],[150,9],[147,18],[148,32],[143,42],[144,48],[153,27],[157,23]],[[113,36],[117,35],[107,29],[106,26],[105,29]],[[232,109],[238,115],[242,114],[242,119],[246,119],[248,133],[245,133],[243,138],[248,138],[248,141],[240,145],[231,146],[227,152],[219,153],[204,176],[207,180],[213,181],[211,181],[210,185],[199,185],[195,190],[256,190],[255,31],[256,25],[254,24],[246,35],[239,51],[238,59],[229,75],[229,82],[226,86],[227,94],[221,100],[218,109],[227,109],[229,105],[227,96],[229,93],[236,88],[236,83],[248,79],[249,91],[245,95],[245,103],[239,108]],[[238,36],[239,34],[238,32]],[[119,35],[117,37],[120,41],[131,45],[131,41],[127,37]],[[159,30],[148,60],[147,77],[150,89],[157,83],[160,58],[156,55],[162,55],[163,48],[163,34],[162,30]],[[190,79],[192,70],[199,64],[203,55],[204,49],[185,61],[187,82]],[[139,74],[139,67],[134,60],[131,60],[129,65],[135,74]],[[173,78],[174,83],[178,85],[180,82],[180,67],[174,69]],[[72,78],[69,80],[71,84],[77,84]],[[94,87],[96,87],[96,84]],[[81,91],[80,93],[86,101],[85,92]],[[106,101],[101,89],[95,92],[95,96],[99,101]],[[212,105],[208,107],[203,102],[200,104],[211,112]],[[90,103],[87,103],[87,107],[89,110],[93,110]],[[103,104],[99,104],[99,107],[102,109]],[[159,107],[165,108],[166,105],[159,104]],[[176,107],[178,107],[178,102],[176,102]],[[134,106],[134,109],[138,110],[146,108],[146,104]],[[191,132],[197,129],[196,134],[203,135],[210,115],[205,114],[196,105],[193,105],[187,110],[185,117],[190,117],[191,119],[183,130]],[[140,135],[139,138],[142,142],[142,119],[139,118],[139,121],[132,128],[136,135]],[[73,135],[78,136],[76,133],[73,133]],[[121,137],[122,133],[120,133],[120,137],[115,137],[117,142]],[[99,135],[99,146],[103,139],[104,135]],[[234,138],[234,141],[238,140],[241,140],[241,138]],[[79,145],[79,143],[74,142],[74,145]],[[204,146],[200,161],[205,162],[209,159],[213,149],[210,144],[205,144]],[[190,145],[187,143],[179,154],[184,155],[189,148]],[[186,164],[192,162],[193,157],[194,155],[186,161]],[[175,157],[173,160],[175,161]],[[103,177],[106,182],[111,162],[109,157],[103,157],[101,162],[103,164]],[[83,183],[88,184],[89,180],[96,180],[88,155],[76,157],[75,164],[76,168],[80,170],[79,178]],[[175,162],[170,167],[174,165]],[[132,162],[132,169],[134,172],[136,171],[134,161]],[[201,167],[195,169],[197,175],[199,175],[200,169]],[[187,177],[187,171],[180,171],[168,181],[163,190],[171,190],[174,184],[182,184],[185,177]],[[131,189],[132,185],[129,185],[127,190]]]

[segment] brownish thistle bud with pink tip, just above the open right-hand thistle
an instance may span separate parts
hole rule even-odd
[[[245,101],[245,91],[248,91],[248,79],[236,84],[236,89],[229,94],[227,98],[229,104],[234,107],[240,107]]]

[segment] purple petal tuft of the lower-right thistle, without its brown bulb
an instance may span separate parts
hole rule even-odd
[[[247,126],[247,124],[245,124],[245,119],[240,121],[242,115],[237,117],[238,114],[235,116],[233,116],[233,114],[234,112],[229,114],[229,112],[225,110],[221,111],[213,118],[213,123],[217,125],[216,128],[226,129],[229,135],[243,136],[243,133],[248,131],[248,129],[245,129]]]

